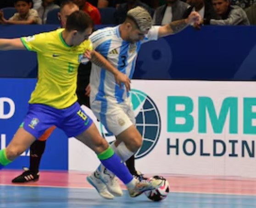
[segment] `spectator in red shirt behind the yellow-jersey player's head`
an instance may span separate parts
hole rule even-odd
[[[79,6],[79,9],[86,12],[95,25],[101,24],[100,11],[95,6],[91,5],[87,0],[74,0],[74,3]]]

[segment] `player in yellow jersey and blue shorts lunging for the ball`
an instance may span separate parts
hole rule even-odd
[[[29,100],[28,113],[10,144],[0,150],[0,169],[21,155],[46,129],[55,125],[67,137],[75,137],[95,151],[101,163],[127,186],[130,196],[136,197],[159,187],[161,180],[139,181],[133,178],[77,102],[77,69],[84,56],[113,73],[118,85],[123,83],[126,89],[130,87],[126,75],[92,51],[88,40],[92,27],[92,20],[87,14],[75,11],[68,16],[65,29],[30,37],[0,39],[0,50],[35,51],[39,67],[38,82]],[[107,194],[104,197],[112,198]]]

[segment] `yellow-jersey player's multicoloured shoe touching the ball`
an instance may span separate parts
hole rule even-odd
[[[146,191],[150,191],[159,188],[162,184],[162,180],[141,180],[134,178],[136,180],[136,185],[133,188],[128,188],[130,197],[138,197],[140,194]]]

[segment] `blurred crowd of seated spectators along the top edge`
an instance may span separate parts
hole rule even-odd
[[[1,0],[0,24],[47,24],[64,0]],[[73,0],[97,24],[120,24],[135,6],[148,10],[155,25],[187,18],[192,11],[203,25],[256,25],[256,0]],[[6,8],[15,9],[6,17]],[[108,20],[108,21],[107,21]]]

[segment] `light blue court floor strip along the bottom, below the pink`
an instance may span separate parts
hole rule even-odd
[[[151,202],[124,193],[106,200],[93,189],[0,186],[0,208],[256,208],[256,196],[172,192]]]

